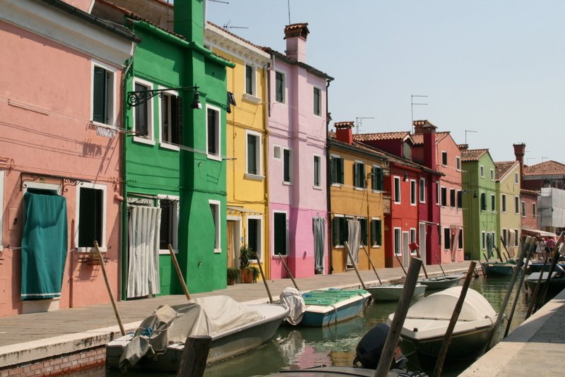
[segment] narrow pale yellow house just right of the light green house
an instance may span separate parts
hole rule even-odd
[[[518,256],[521,236],[520,163],[518,161],[494,162],[496,167],[496,214],[500,237],[500,251]]]

